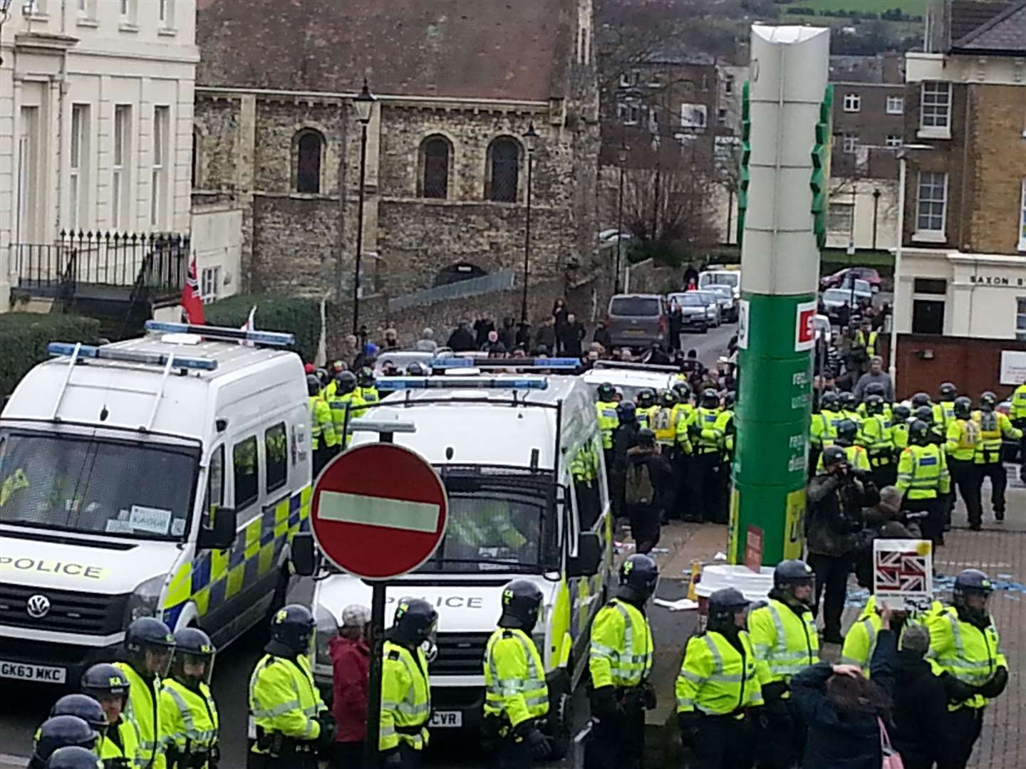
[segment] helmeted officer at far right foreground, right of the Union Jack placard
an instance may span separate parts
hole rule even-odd
[[[978,569],[955,577],[951,606],[932,613],[929,655],[975,692],[969,699],[948,705],[945,726],[953,737],[953,755],[945,767],[961,769],[980,736],[987,703],[1000,696],[1009,682],[1009,663],[1000,650],[994,619],[987,611],[993,586]]]

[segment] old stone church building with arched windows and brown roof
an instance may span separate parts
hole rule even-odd
[[[239,287],[352,291],[361,123],[363,293],[399,296],[524,259],[594,265],[591,0],[199,0],[194,202],[242,212]]]

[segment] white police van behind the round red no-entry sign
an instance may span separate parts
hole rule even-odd
[[[573,370],[580,362],[538,361],[549,371],[562,363]],[[545,597],[534,635],[552,700],[550,731],[557,754],[564,754],[570,695],[587,666],[588,629],[605,601],[613,564],[602,440],[588,387],[577,376],[487,373],[390,377],[379,387],[397,392],[364,422],[411,422],[416,432],[396,433],[394,442],[427,458],[448,492],[446,533],[434,556],[387,590],[387,622],[406,596],[438,610],[432,726],[477,729],[484,648],[501,614],[502,589],[529,579]],[[379,439],[360,432],[360,420],[354,428],[353,446]],[[325,564],[320,568],[314,674],[328,694],[327,642],[342,610],[369,606],[371,591]]]

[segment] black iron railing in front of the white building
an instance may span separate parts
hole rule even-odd
[[[189,236],[171,234],[68,233],[54,243],[15,243],[17,287],[26,291],[74,289],[77,285],[142,284],[173,292],[189,272]]]

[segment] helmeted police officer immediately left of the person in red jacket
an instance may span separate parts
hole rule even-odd
[[[256,727],[249,769],[316,769],[316,750],[334,738],[334,720],[307,658],[313,632],[306,606],[289,604],[271,619],[267,653],[249,677],[249,715]]]

